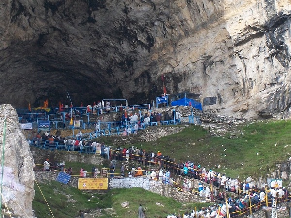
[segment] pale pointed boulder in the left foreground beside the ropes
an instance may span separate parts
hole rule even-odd
[[[6,119],[5,146],[2,144],[4,119]],[[12,212],[12,217],[32,218],[32,200],[35,193],[34,160],[18,125],[16,110],[9,104],[0,105],[0,181],[3,173],[2,193],[4,198],[2,208],[6,205]],[[2,168],[3,148],[5,148],[5,152],[4,167]]]

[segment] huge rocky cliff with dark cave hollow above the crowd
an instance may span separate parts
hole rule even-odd
[[[0,103],[148,102],[290,117],[290,0],[1,0]]]

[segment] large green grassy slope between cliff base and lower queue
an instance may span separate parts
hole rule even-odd
[[[291,121],[256,122],[242,126],[241,132],[242,135],[234,138],[215,137],[200,126],[191,126],[156,142],[134,146],[147,151],[160,150],[176,161],[192,160],[212,169],[221,165],[218,171],[233,178],[265,176],[275,169],[275,163],[290,156]]]

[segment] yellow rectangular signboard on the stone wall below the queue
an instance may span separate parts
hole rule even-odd
[[[78,189],[107,190],[108,178],[79,178]]]

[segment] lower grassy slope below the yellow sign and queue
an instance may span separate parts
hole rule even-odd
[[[201,206],[208,205],[205,203],[189,203],[182,207],[181,203],[171,198],[163,197],[142,188],[113,189],[103,195],[87,193],[55,181],[49,184],[41,184],[40,188],[55,218],[77,217],[80,209],[86,212],[89,212],[91,209],[99,209],[102,212],[100,218],[110,218],[113,216],[117,218],[137,217],[139,204],[142,204],[147,209],[146,214],[148,218],[164,218],[169,215],[168,213],[183,213],[195,206],[200,208]],[[39,218],[51,218],[49,207],[44,201],[40,190],[35,187],[35,191],[32,207],[35,209],[36,216]],[[70,196],[69,199],[76,201],[68,202],[68,195]],[[129,202],[129,207],[127,208],[121,206],[121,203],[125,201]],[[164,207],[157,206],[156,202],[161,203]],[[107,214],[104,210],[110,207],[113,207],[116,211],[116,214],[113,216]]]

